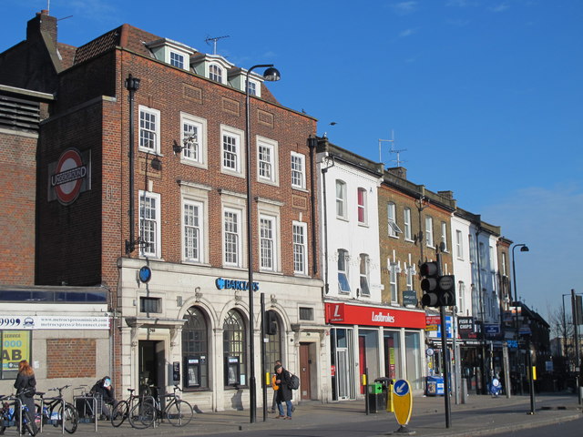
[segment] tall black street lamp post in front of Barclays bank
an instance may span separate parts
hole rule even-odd
[[[255,328],[253,325],[253,244],[251,227],[251,119],[250,119],[250,83],[249,76],[255,68],[267,68],[263,78],[268,81],[280,80],[280,72],[273,68],[273,64],[258,64],[251,66],[245,76],[245,140],[247,142],[247,264],[248,264],[248,289],[249,289],[249,412],[250,422],[256,421],[257,387],[255,383]]]

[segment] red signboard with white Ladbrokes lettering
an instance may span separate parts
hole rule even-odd
[[[326,303],[326,323],[343,325],[394,326],[424,330],[425,314],[418,310],[397,310],[345,303]]]

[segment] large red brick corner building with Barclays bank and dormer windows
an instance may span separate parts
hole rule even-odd
[[[255,377],[265,300],[277,325],[266,370],[281,359],[301,377],[298,397],[327,398],[315,119],[281,106],[258,72],[130,25],[60,45],[46,11],[0,71],[0,83],[56,96],[38,140],[36,282],[108,290],[97,373],[119,393],[180,383],[203,411],[247,403],[251,176]]]

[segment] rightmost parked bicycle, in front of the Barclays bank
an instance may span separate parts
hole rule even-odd
[[[164,409],[161,407],[160,396],[145,397],[141,402],[132,407],[129,412],[129,423],[137,429],[144,429],[153,426],[158,420],[164,420],[172,426],[186,426],[192,420],[194,412],[192,406],[187,401],[182,401],[177,394],[182,391],[178,385],[174,386],[174,392],[165,394],[161,399],[168,400]]]

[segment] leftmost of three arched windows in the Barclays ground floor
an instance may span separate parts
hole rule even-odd
[[[210,355],[207,319],[196,307],[190,307],[184,319],[187,320],[182,328],[184,385],[189,388],[208,389]]]

